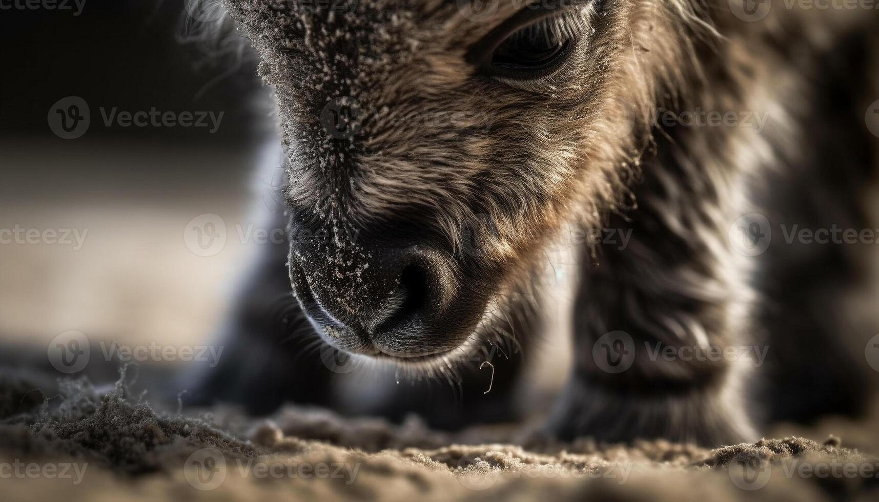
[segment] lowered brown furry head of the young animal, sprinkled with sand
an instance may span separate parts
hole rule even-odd
[[[624,197],[682,0],[226,0],[274,87],[294,292],[396,360],[488,329],[563,222]],[[678,65],[678,66],[676,66]]]

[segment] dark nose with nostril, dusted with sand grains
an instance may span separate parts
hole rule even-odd
[[[450,289],[447,258],[425,244],[293,244],[290,263],[313,320],[373,339],[430,324]]]

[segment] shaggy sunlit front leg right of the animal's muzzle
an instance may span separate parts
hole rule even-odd
[[[741,394],[755,360],[742,338],[748,264],[728,237],[741,180],[717,171],[720,184],[709,183],[699,170],[712,166],[681,155],[645,165],[638,207],[611,218],[628,244],[583,253],[575,367],[549,424],[561,439],[716,446],[754,436]]]

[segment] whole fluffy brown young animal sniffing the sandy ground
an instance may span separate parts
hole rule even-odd
[[[269,224],[288,238],[252,266],[223,330],[230,355],[200,373],[194,403],[420,412],[438,427],[514,418],[555,307],[546,250],[562,244],[578,257],[572,368],[541,433],[714,446],[860,410],[879,331],[862,232],[876,228],[877,11],[217,8],[276,99]],[[570,237],[608,230],[626,244]],[[351,361],[406,382],[345,404],[333,382]]]

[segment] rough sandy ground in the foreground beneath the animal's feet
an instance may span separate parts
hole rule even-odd
[[[836,436],[708,450],[667,441],[556,444],[502,427],[437,433],[414,418],[389,426],[294,406],[271,418],[224,408],[180,416],[155,411],[121,382],[93,388],[82,380],[56,384],[46,375],[2,372],[4,499],[867,501],[879,495],[879,458],[844,447]],[[879,440],[875,427],[830,426]]]

